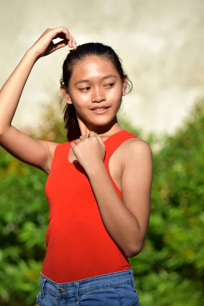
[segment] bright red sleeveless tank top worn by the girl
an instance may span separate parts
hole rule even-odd
[[[120,144],[135,136],[126,130],[111,135],[104,143],[104,164]],[[91,184],[79,163],[68,161],[70,142],[55,149],[45,184],[49,206],[45,237],[46,254],[42,273],[56,283],[68,283],[101,274],[130,269],[130,262],[116,245],[101,219]],[[122,199],[122,194],[111,177]]]

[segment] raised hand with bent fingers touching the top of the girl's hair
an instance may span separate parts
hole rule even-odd
[[[54,44],[53,39],[56,38],[62,38],[63,40]],[[53,53],[67,44],[70,48],[77,49],[76,43],[77,42],[69,33],[68,29],[59,27],[55,29],[46,29],[30,49],[40,58]]]

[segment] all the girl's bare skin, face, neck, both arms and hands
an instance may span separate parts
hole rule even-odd
[[[62,38],[53,43],[53,39]],[[36,61],[68,46],[77,48],[68,29],[46,29],[25,53],[0,91],[0,145],[16,159],[49,174],[58,143],[33,139],[11,124],[24,85]],[[115,74],[114,80],[101,77]],[[88,79],[74,87],[80,79]],[[127,80],[127,76],[125,76]],[[110,88],[110,83],[115,83]],[[88,88],[86,88],[88,87]],[[80,89],[83,89],[81,91]],[[82,136],[71,143],[73,155],[87,172],[106,229],[127,257],[138,254],[144,244],[150,213],[152,155],[149,145],[140,138],[124,141],[112,154],[109,170],[122,193],[119,197],[104,165],[104,141],[121,131],[116,118],[126,82],[121,82],[115,67],[104,58],[86,58],[74,67],[68,92],[61,87],[67,103],[73,103]],[[94,114],[90,108],[107,105],[106,114]],[[98,134],[98,136],[95,134]],[[106,192],[104,192],[106,191]]]

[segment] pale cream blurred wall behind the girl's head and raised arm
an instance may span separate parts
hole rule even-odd
[[[63,25],[78,44],[98,41],[116,50],[134,86],[120,114],[144,133],[172,133],[204,95],[203,0],[4,0],[0,25],[1,86],[46,28]],[[54,103],[68,49],[35,64],[13,125],[35,126],[42,104]]]

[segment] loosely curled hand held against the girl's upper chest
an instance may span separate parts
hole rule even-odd
[[[98,163],[104,163],[106,146],[95,132],[89,132],[88,137],[81,135],[75,142],[70,144],[75,157],[85,171],[96,166]]]

